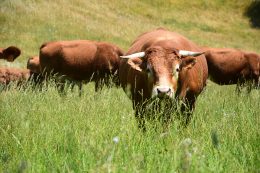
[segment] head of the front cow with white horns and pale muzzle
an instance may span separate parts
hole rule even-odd
[[[152,97],[172,98],[177,91],[179,73],[192,68],[196,63],[194,57],[201,54],[203,53],[154,46],[147,48],[145,52],[121,58],[129,58],[131,68],[147,75]]]

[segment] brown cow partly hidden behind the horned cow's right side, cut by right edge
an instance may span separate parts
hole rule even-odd
[[[240,87],[249,82],[259,86],[260,55],[229,48],[202,47],[208,63],[210,79],[219,85],[237,84]]]

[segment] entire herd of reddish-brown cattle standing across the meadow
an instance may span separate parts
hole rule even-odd
[[[20,53],[14,46],[0,48],[0,59],[12,62]],[[59,91],[69,80],[78,84],[81,93],[82,83],[93,81],[98,91],[112,79],[132,99],[139,127],[145,128],[144,110],[151,100],[180,103],[187,125],[208,77],[220,85],[237,84],[239,92],[241,86],[259,88],[259,74],[259,54],[198,46],[178,33],[158,28],[138,36],[126,53],[114,44],[98,41],[44,43],[39,55],[28,59],[27,69],[1,67],[0,84],[42,83],[58,76]]]

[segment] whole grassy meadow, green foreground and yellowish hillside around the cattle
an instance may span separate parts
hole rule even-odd
[[[252,0],[1,0],[0,47],[25,68],[43,42],[102,40],[127,50],[158,27],[195,43],[260,53],[260,30],[245,16]],[[260,92],[208,82],[187,128],[157,122],[142,133],[121,88],[94,84],[61,96],[53,83],[0,92],[0,172],[260,172]],[[156,125],[154,125],[156,124]],[[157,126],[158,125],[158,126]],[[154,126],[157,126],[154,128]]]

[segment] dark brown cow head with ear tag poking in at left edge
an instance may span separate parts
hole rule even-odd
[[[5,59],[8,62],[13,62],[20,54],[21,50],[14,46],[10,46],[6,49],[0,48],[0,59]]]

